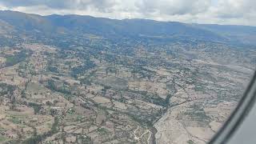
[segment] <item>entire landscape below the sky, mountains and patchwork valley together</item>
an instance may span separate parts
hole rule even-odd
[[[256,27],[0,11],[0,143],[206,144]]]

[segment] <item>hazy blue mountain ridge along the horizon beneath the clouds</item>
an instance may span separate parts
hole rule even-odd
[[[256,46],[256,27],[158,22],[146,19],[116,20],[82,15],[41,16],[10,10],[0,11],[3,24],[25,34],[58,37],[65,34],[94,34],[107,39],[118,38],[188,38],[209,42],[227,42]],[[10,31],[10,30],[8,30]],[[6,31],[6,32],[8,32]]]

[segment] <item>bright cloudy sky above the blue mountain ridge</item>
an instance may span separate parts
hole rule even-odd
[[[256,0],[0,0],[0,9],[256,26]]]

